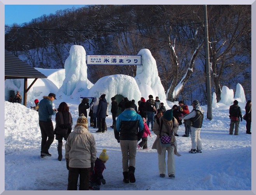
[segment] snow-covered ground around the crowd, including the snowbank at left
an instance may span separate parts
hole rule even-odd
[[[55,101],[55,105],[61,102]],[[244,113],[244,104],[239,104]],[[75,125],[78,105],[69,106]],[[238,136],[229,135],[229,106],[213,109],[211,121],[206,119],[207,106],[202,108],[205,110],[201,131],[202,153],[188,153],[191,139],[181,137],[185,132],[181,125],[178,130],[180,136],[176,137],[181,156],[175,156],[174,180],[159,177],[157,151],[151,149],[156,135],[152,133],[153,136],[148,137],[149,149],[138,150],[136,154],[136,183],[124,184],[120,145],[109,127],[112,116],[106,118],[106,133],[95,133],[96,129],[89,127],[96,139],[97,156],[104,148],[109,156],[103,172],[106,185],[101,185],[101,190],[251,190],[253,134],[246,134],[246,122],[240,122]],[[54,116],[53,123],[55,125]],[[57,140],[49,149],[52,157],[40,158],[40,143],[37,111],[5,101],[5,190],[66,190],[68,170],[64,159],[61,162],[57,160]]]

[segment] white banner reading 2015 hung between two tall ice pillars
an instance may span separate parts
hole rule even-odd
[[[141,56],[87,55],[87,65],[141,65]]]

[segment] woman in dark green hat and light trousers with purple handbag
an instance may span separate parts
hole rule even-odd
[[[160,177],[165,177],[166,162],[165,153],[167,151],[167,173],[169,178],[175,178],[175,161],[174,154],[181,156],[177,152],[177,144],[174,134],[177,133],[179,123],[173,117],[172,109],[164,112],[159,121],[153,124],[153,132],[157,135],[152,149],[157,149],[158,153],[158,169]]]

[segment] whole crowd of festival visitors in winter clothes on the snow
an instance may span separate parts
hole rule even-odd
[[[52,102],[56,99],[54,93],[44,96],[40,102],[35,99],[35,106],[31,106],[32,109],[38,111],[42,134],[40,153],[42,158],[51,156],[49,148],[55,137],[58,140],[57,159],[61,161],[63,159],[63,138],[66,140],[64,158],[68,169],[68,190],[77,190],[78,178],[80,178],[79,190],[100,190],[101,184],[106,183],[103,171],[106,169],[105,163],[108,160],[108,154],[106,154],[106,149],[103,149],[99,157],[96,156],[96,142],[93,133],[88,130],[87,119],[87,109],[90,109],[90,126],[98,128],[96,133],[107,131],[105,119],[108,116],[109,104],[105,96],[106,94],[102,94],[99,98],[94,97],[91,103],[88,98],[82,99],[78,106],[79,116],[73,131],[73,119],[68,105],[62,102],[57,109],[52,108]],[[165,177],[166,170],[169,178],[175,178],[174,154],[180,156],[176,143],[180,125],[184,124],[185,126],[183,137],[191,137],[191,149],[188,152],[190,154],[202,153],[200,130],[204,119],[204,110],[200,107],[198,100],[192,102],[192,111],[189,111],[183,101],[179,101],[178,104],[166,110],[164,103],[158,97],[154,100],[152,95],[148,96],[148,100],[141,97],[138,107],[135,105],[134,99],[129,101],[128,98],[123,98],[118,104],[115,97],[111,98],[113,122],[110,127],[113,128],[115,139],[120,143],[124,183],[136,182],[136,152],[137,149],[148,149],[148,136],[152,137],[151,132],[157,135],[152,149],[157,150],[158,170],[161,178]],[[122,113],[117,116],[118,109]],[[237,100],[230,106],[229,134],[233,134],[235,127],[234,135],[238,135],[239,122],[243,118],[246,120],[246,133],[251,134],[250,100],[247,101],[245,109],[246,114],[242,116]],[[52,115],[56,115],[55,127],[53,127]],[[166,153],[167,163],[165,161]]]

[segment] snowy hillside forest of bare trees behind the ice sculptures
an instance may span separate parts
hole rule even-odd
[[[212,93],[237,83],[251,99],[251,5],[207,5]],[[149,49],[169,101],[206,103],[204,5],[85,5],[5,26],[5,50],[32,67],[64,68],[70,47],[87,55],[137,55]],[[88,65],[95,83],[136,66]],[[178,96],[175,87],[183,82]]]

